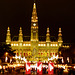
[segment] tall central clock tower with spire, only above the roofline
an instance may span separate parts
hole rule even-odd
[[[36,12],[36,4],[33,5],[31,17],[31,41],[38,41],[38,17]]]

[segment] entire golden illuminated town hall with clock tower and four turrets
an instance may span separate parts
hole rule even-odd
[[[56,56],[58,49],[63,44],[61,28],[59,28],[57,41],[51,41],[50,30],[47,28],[46,40],[40,41],[38,36],[38,17],[36,11],[36,4],[33,5],[31,17],[31,36],[30,41],[24,41],[22,28],[20,27],[17,41],[11,41],[10,28],[7,29],[6,43],[10,44],[12,49],[15,49],[17,56],[26,57],[29,60],[47,60],[48,57]],[[43,38],[43,37],[42,37]]]

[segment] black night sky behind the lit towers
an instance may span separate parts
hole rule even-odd
[[[36,0],[39,18],[39,35],[45,36],[47,27],[50,35],[58,36],[62,28],[63,41],[75,42],[75,0]],[[11,36],[18,36],[19,27],[23,35],[30,36],[33,0],[0,0],[0,42],[6,38],[7,27]]]

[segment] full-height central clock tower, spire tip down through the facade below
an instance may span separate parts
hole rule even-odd
[[[36,4],[33,5],[32,17],[31,17],[31,51],[32,60],[36,60],[38,57],[38,17],[36,12]]]

